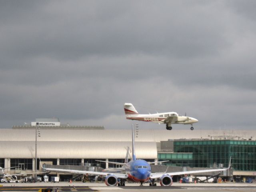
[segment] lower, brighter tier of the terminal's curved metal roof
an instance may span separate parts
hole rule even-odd
[[[131,142],[38,142],[38,158],[124,159]],[[136,142],[136,157],[156,159],[155,142]],[[33,141],[0,141],[0,158],[34,158]],[[150,150],[148,150],[150,148]],[[145,150],[146,149],[146,150]]]

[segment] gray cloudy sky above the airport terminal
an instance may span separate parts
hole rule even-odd
[[[255,9],[254,0],[1,0],[0,127],[58,117],[130,128],[131,102],[141,113],[186,112],[195,129],[254,129]]]

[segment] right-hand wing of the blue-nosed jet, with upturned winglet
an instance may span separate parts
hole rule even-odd
[[[150,178],[156,179],[161,178],[163,175],[183,175],[183,174],[192,174],[192,173],[204,173],[204,172],[216,172],[216,171],[225,171],[230,168],[231,158],[228,165],[228,168],[222,168],[222,169],[208,169],[208,170],[198,170],[198,171],[183,171],[183,172],[171,172],[171,173],[151,173]]]

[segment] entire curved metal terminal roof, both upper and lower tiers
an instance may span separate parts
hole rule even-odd
[[[132,144],[131,130],[43,129],[38,138],[40,158],[125,158],[126,147]],[[252,139],[254,130],[139,130],[136,156],[156,159],[156,142],[168,139]],[[33,158],[35,130],[0,129],[0,158]]]

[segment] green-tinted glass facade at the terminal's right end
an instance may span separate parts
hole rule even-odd
[[[195,140],[174,141],[174,153],[158,154],[158,160],[174,162],[175,153],[192,153],[192,159],[177,158],[177,166],[210,167],[213,164],[228,166],[230,156],[233,170],[256,170],[256,141],[250,140]],[[167,156],[168,155],[168,156]],[[177,154],[178,155],[178,154]],[[180,163],[178,163],[178,160]]]

